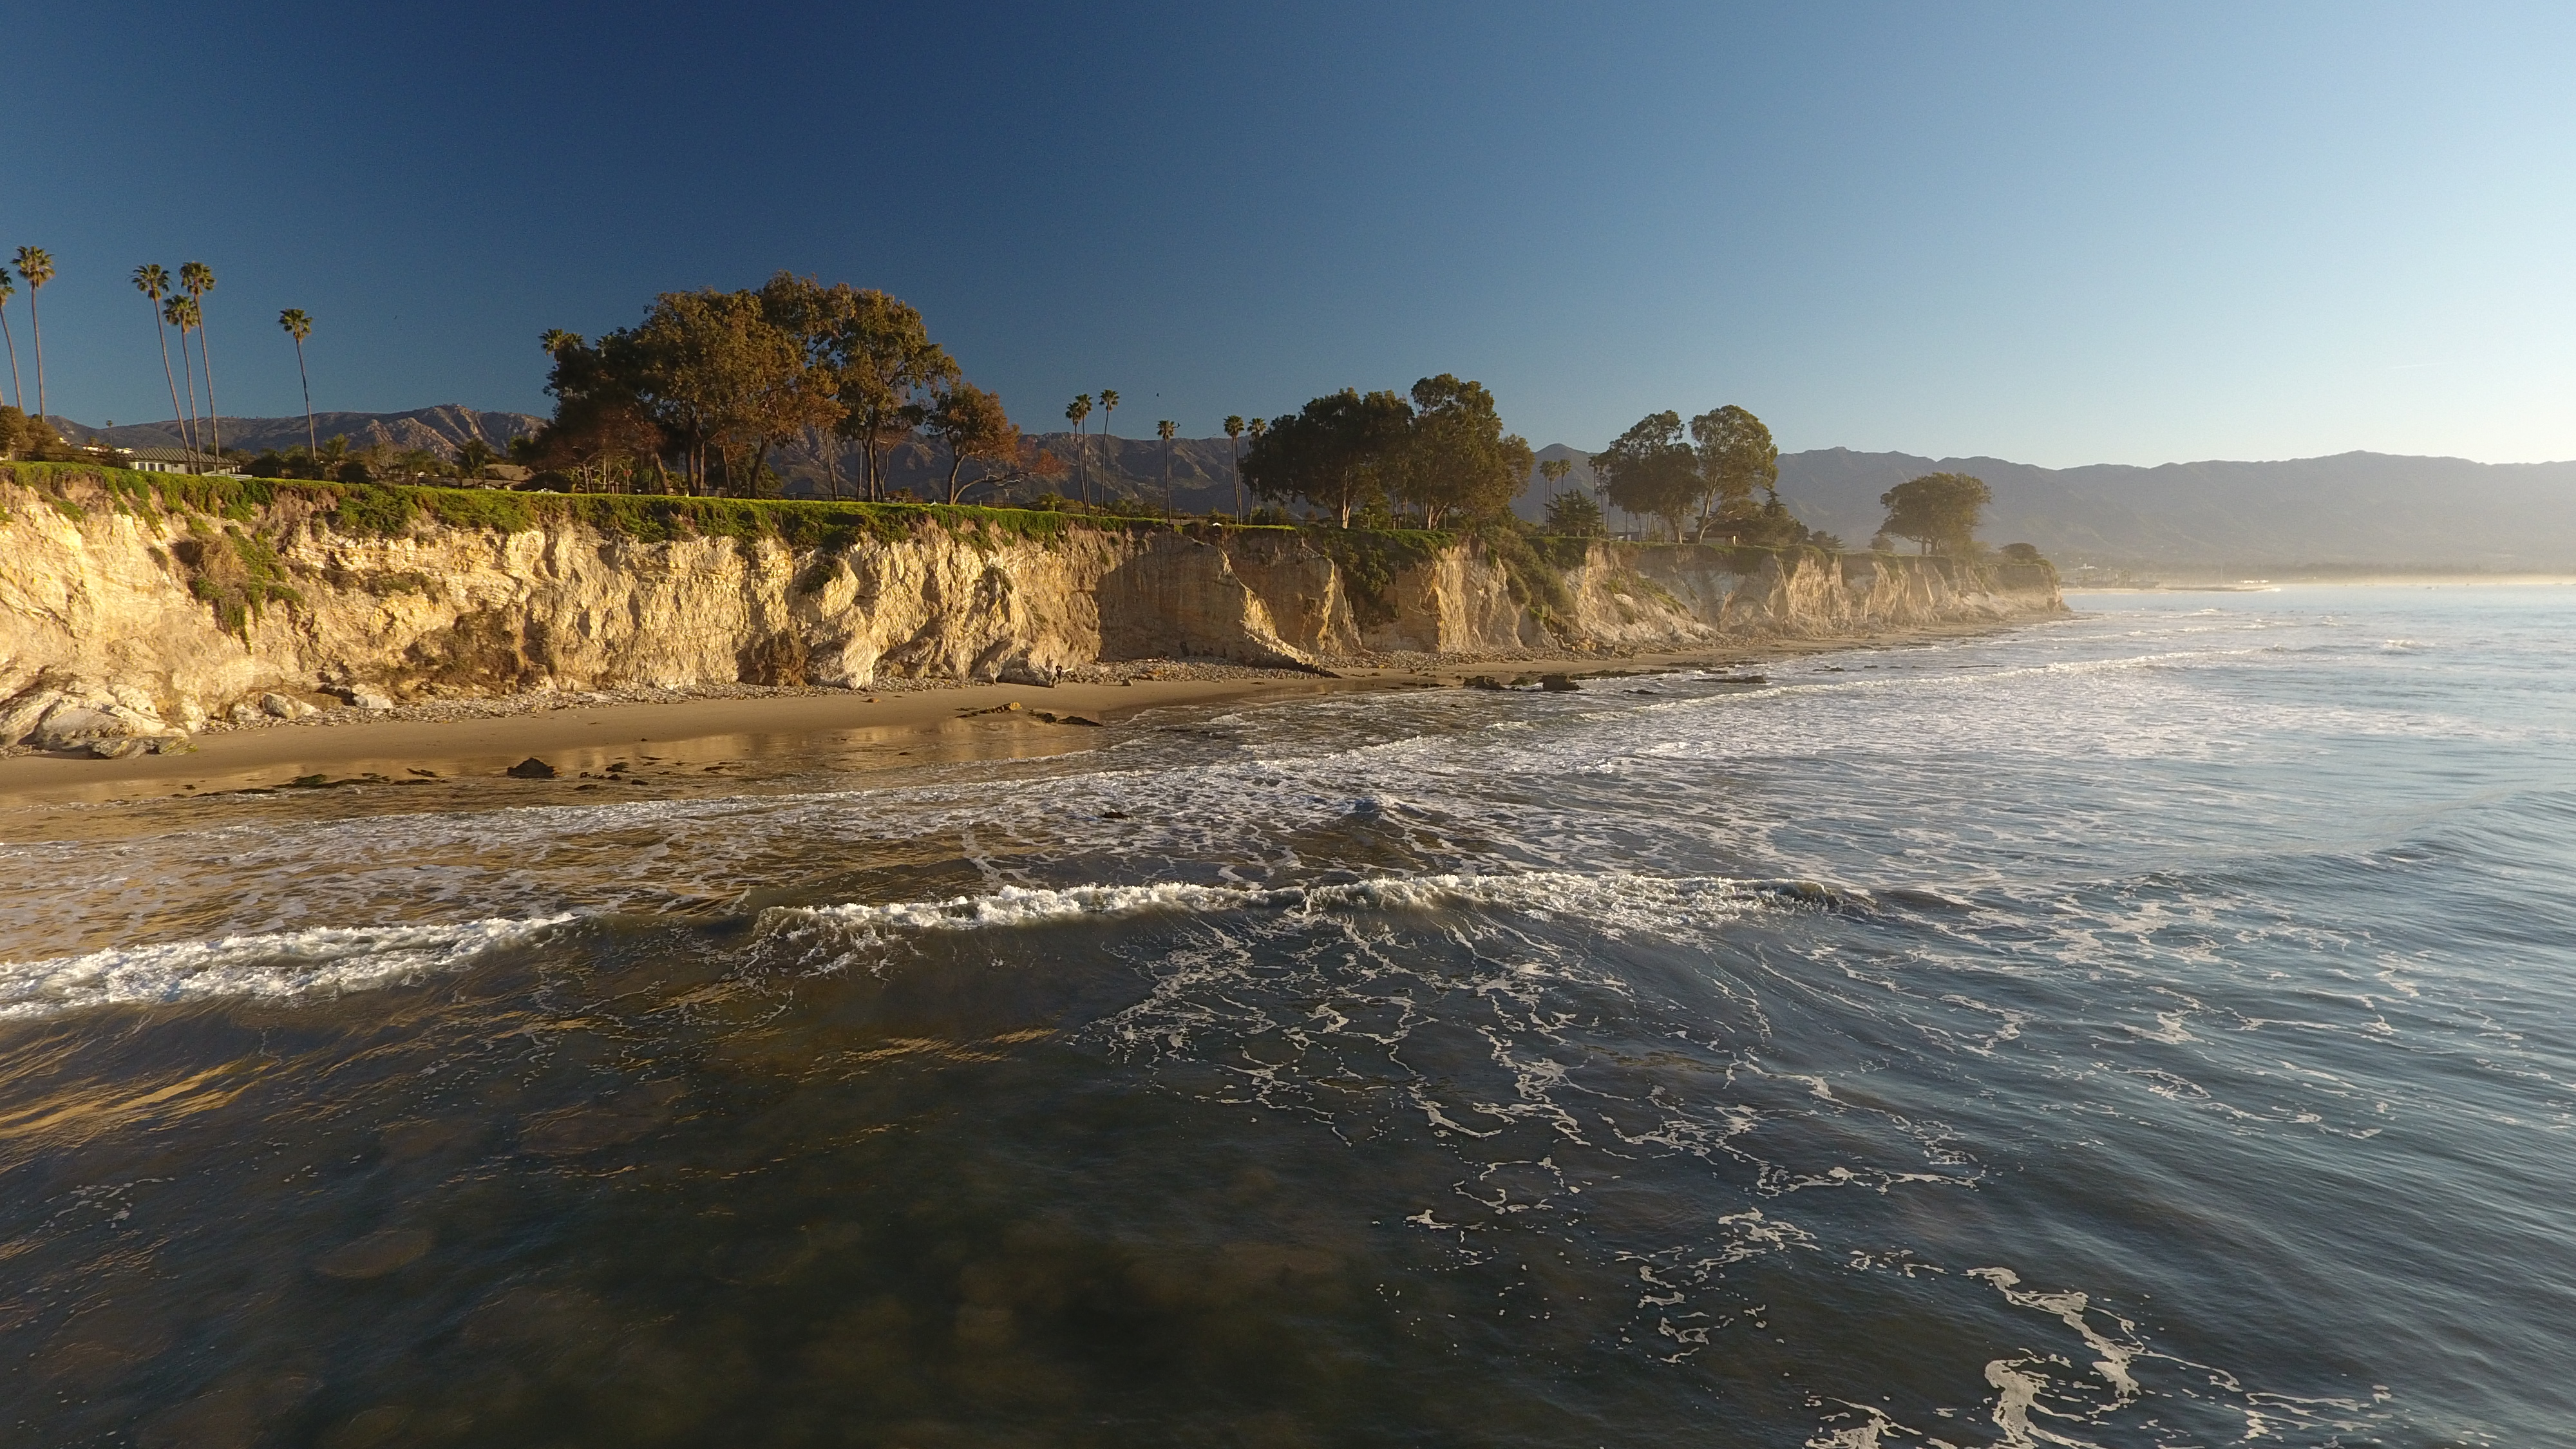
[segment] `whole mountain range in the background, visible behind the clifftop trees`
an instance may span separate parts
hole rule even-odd
[[[495,449],[533,433],[544,420],[528,413],[484,413],[461,405],[412,413],[317,413],[322,438],[353,446],[376,441],[397,449],[453,454],[466,438]],[[178,446],[170,423],[88,428],[57,420],[67,438],[103,436],[118,446]],[[224,418],[224,443],[286,449],[304,441],[304,418]],[[1051,487],[1079,495],[1084,474],[1095,492],[1162,500],[1167,449],[1159,438],[1103,438],[1097,433],[1036,433],[1041,449],[1066,464]],[[1170,446],[1172,503],[1182,511],[1236,511],[1229,438],[1175,438]],[[1595,482],[1589,454],[1551,443],[1538,456],[1566,459],[1564,487]],[[835,462],[850,490],[855,454]],[[822,456],[786,449],[778,472],[791,492],[822,492]],[[2576,572],[2576,462],[2478,464],[2396,454],[2336,454],[2282,462],[2192,462],[2161,467],[2089,464],[2045,469],[1991,456],[1932,459],[1919,454],[1862,454],[1811,449],[1780,454],[1780,498],[1811,529],[1860,547],[1886,511],[1878,495],[1927,472],[1965,472],[1986,480],[1994,505],[1984,536],[2030,541],[2061,565],[2105,567],[2434,567],[2470,572]],[[930,443],[907,443],[889,456],[889,485],[935,498],[948,456]],[[1533,472],[1517,508],[1538,518],[1548,485]]]

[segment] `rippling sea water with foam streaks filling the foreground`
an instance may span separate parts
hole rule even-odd
[[[2071,603],[899,776],[23,810],[0,1421],[2566,1439],[2576,590]]]

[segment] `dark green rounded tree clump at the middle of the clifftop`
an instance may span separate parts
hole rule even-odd
[[[1298,413],[1242,423],[1252,433],[1239,474],[1265,500],[1293,500],[1340,526],[1409,511],[1425,529],[1486,521],[1512,511],[1530,482],[1530,443],[1502,428],[1494,394],[1453,374],[1396,392],[1316,397]]]

